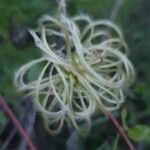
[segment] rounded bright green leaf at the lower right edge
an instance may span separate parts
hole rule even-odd
[[[135,125],[127,130],[128,136],[135,142],[150,142],[150,127]]]

